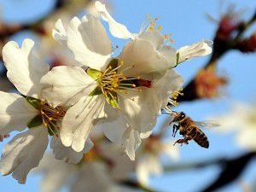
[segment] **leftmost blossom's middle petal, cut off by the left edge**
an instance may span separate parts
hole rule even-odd
[[[38,114],[23,96],[0,91],[0,134],[22,131]]]

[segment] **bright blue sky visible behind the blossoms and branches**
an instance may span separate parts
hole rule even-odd
[[[31,22],[40,15],[49,12],[53,6],[52,0],[0,0],[3,20],[8,22]],[[112,0],[113,16],[119,22],[124,23],[131,32],[138,32],[145,15],[150,14],[158,17],[158,23],[163,26],[163,32],[172,32],[174,47],[179,48],[186,44],[192,44],[200,41],[202,38],[212,39],[216,24],[207,20],[207,14],[213,17],[219,17],[220,10],[217,0]],[[256,2],[253,0],[233,0],[224,1],[227,3],[236,3],[237,9],[245,8],[244,18],[253,14],[256,8]],[[40,8],[40,9],[38,9]],[[225,9],[222,11],[224,12]],[[255,26],[250,32],[255,30]],[[20,34],[15,40],[21,42],[28,34]],[[113,40],[113,44],[122,45],[122,42]],[[187,61],[177,67],[177,71],[182,74],[185,82],[189,82],[197,70],[207,61],[207,57]],[[226,96],[213,101],[200,101],[193,103],[183,103],[178,110],[183,110],[193,119],[203,120],[208,116],[225,113],[230,109],[233,101],[248,102],[255,100],[256,56],[241,55],[237,51],[231,51],[228,55],[219,61],[218,68],[221,73],[227,74],[230,79],[229,86],[224,90]],[[160,121],[165,119],[161,117]],[[180,149],[181,162],[190,162],[193,160],[207,160],[219,156],[236,156],[244,153],[241,148],[236,146],[232,134],[216,134],[207,131],[211,141],[211,148],[199,148],[194,143],[184,146]],[[3,144],[1,144],[1,149]],[[207,169],[201,169],[189,172],[169,173],[164,177],[152,179],[152,186],[163,192],[194,192],[202,189],[217,177],[218,167],[211,166]],[[245,182],[256,181],[256,160],[247,168],[242,176]],[[1,177],[0,186],[3,191],[38,191],[40,177],[30,174],[26,185],[20,185],[12,177]],[[184,184],[186,183],[186,184]],[[2,190],[1,190],[2,191]],[[239,192],[238,183],[230,185],[219,192]]]

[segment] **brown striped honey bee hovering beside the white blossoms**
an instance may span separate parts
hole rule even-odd
[[[183,136],[182,139],[178,139],[176,143],[189,144],[189,140],[194,140],[195,143],[199,144],[203,148],[209,148],[209,141],[206,134],[201,131],[198,126],[217,126],[215,124],[207,124],[204,122],[196,122],[186,116],[183,112],[174,112],[174,119],[169,124],[176,123],[173,125],[172,137],[176,136],[179,130],[180,135]],[[176,144],[174,143],[174,144]]]

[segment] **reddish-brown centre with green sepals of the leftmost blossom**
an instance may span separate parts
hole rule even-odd
[[[54,108],[45,100],[39,100],[30,96],[26,97],[26,101],[30,103],[32,107],[38,109],[39,112],[39,114],[27,124],[27,127],[33,128],[38,125],[44,125],[44,127],[48,129],[50,136],[57,136],[61,128],[61,120],[66,113],[65,109],[61,106]]]

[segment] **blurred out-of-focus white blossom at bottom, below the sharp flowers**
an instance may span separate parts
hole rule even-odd
[[[67,186],[68,181],[71,181],[68,183],[70,192],[131,192],[138,190],[122,186],[119,182],[125,181],[133,170],[134,161],[127,159],[113,145],[103,144],[84,154],[78,165],[55,160],[52,155],[45,154],[35,173],[44,174],[41,182],[43,192],[59,191]]]

